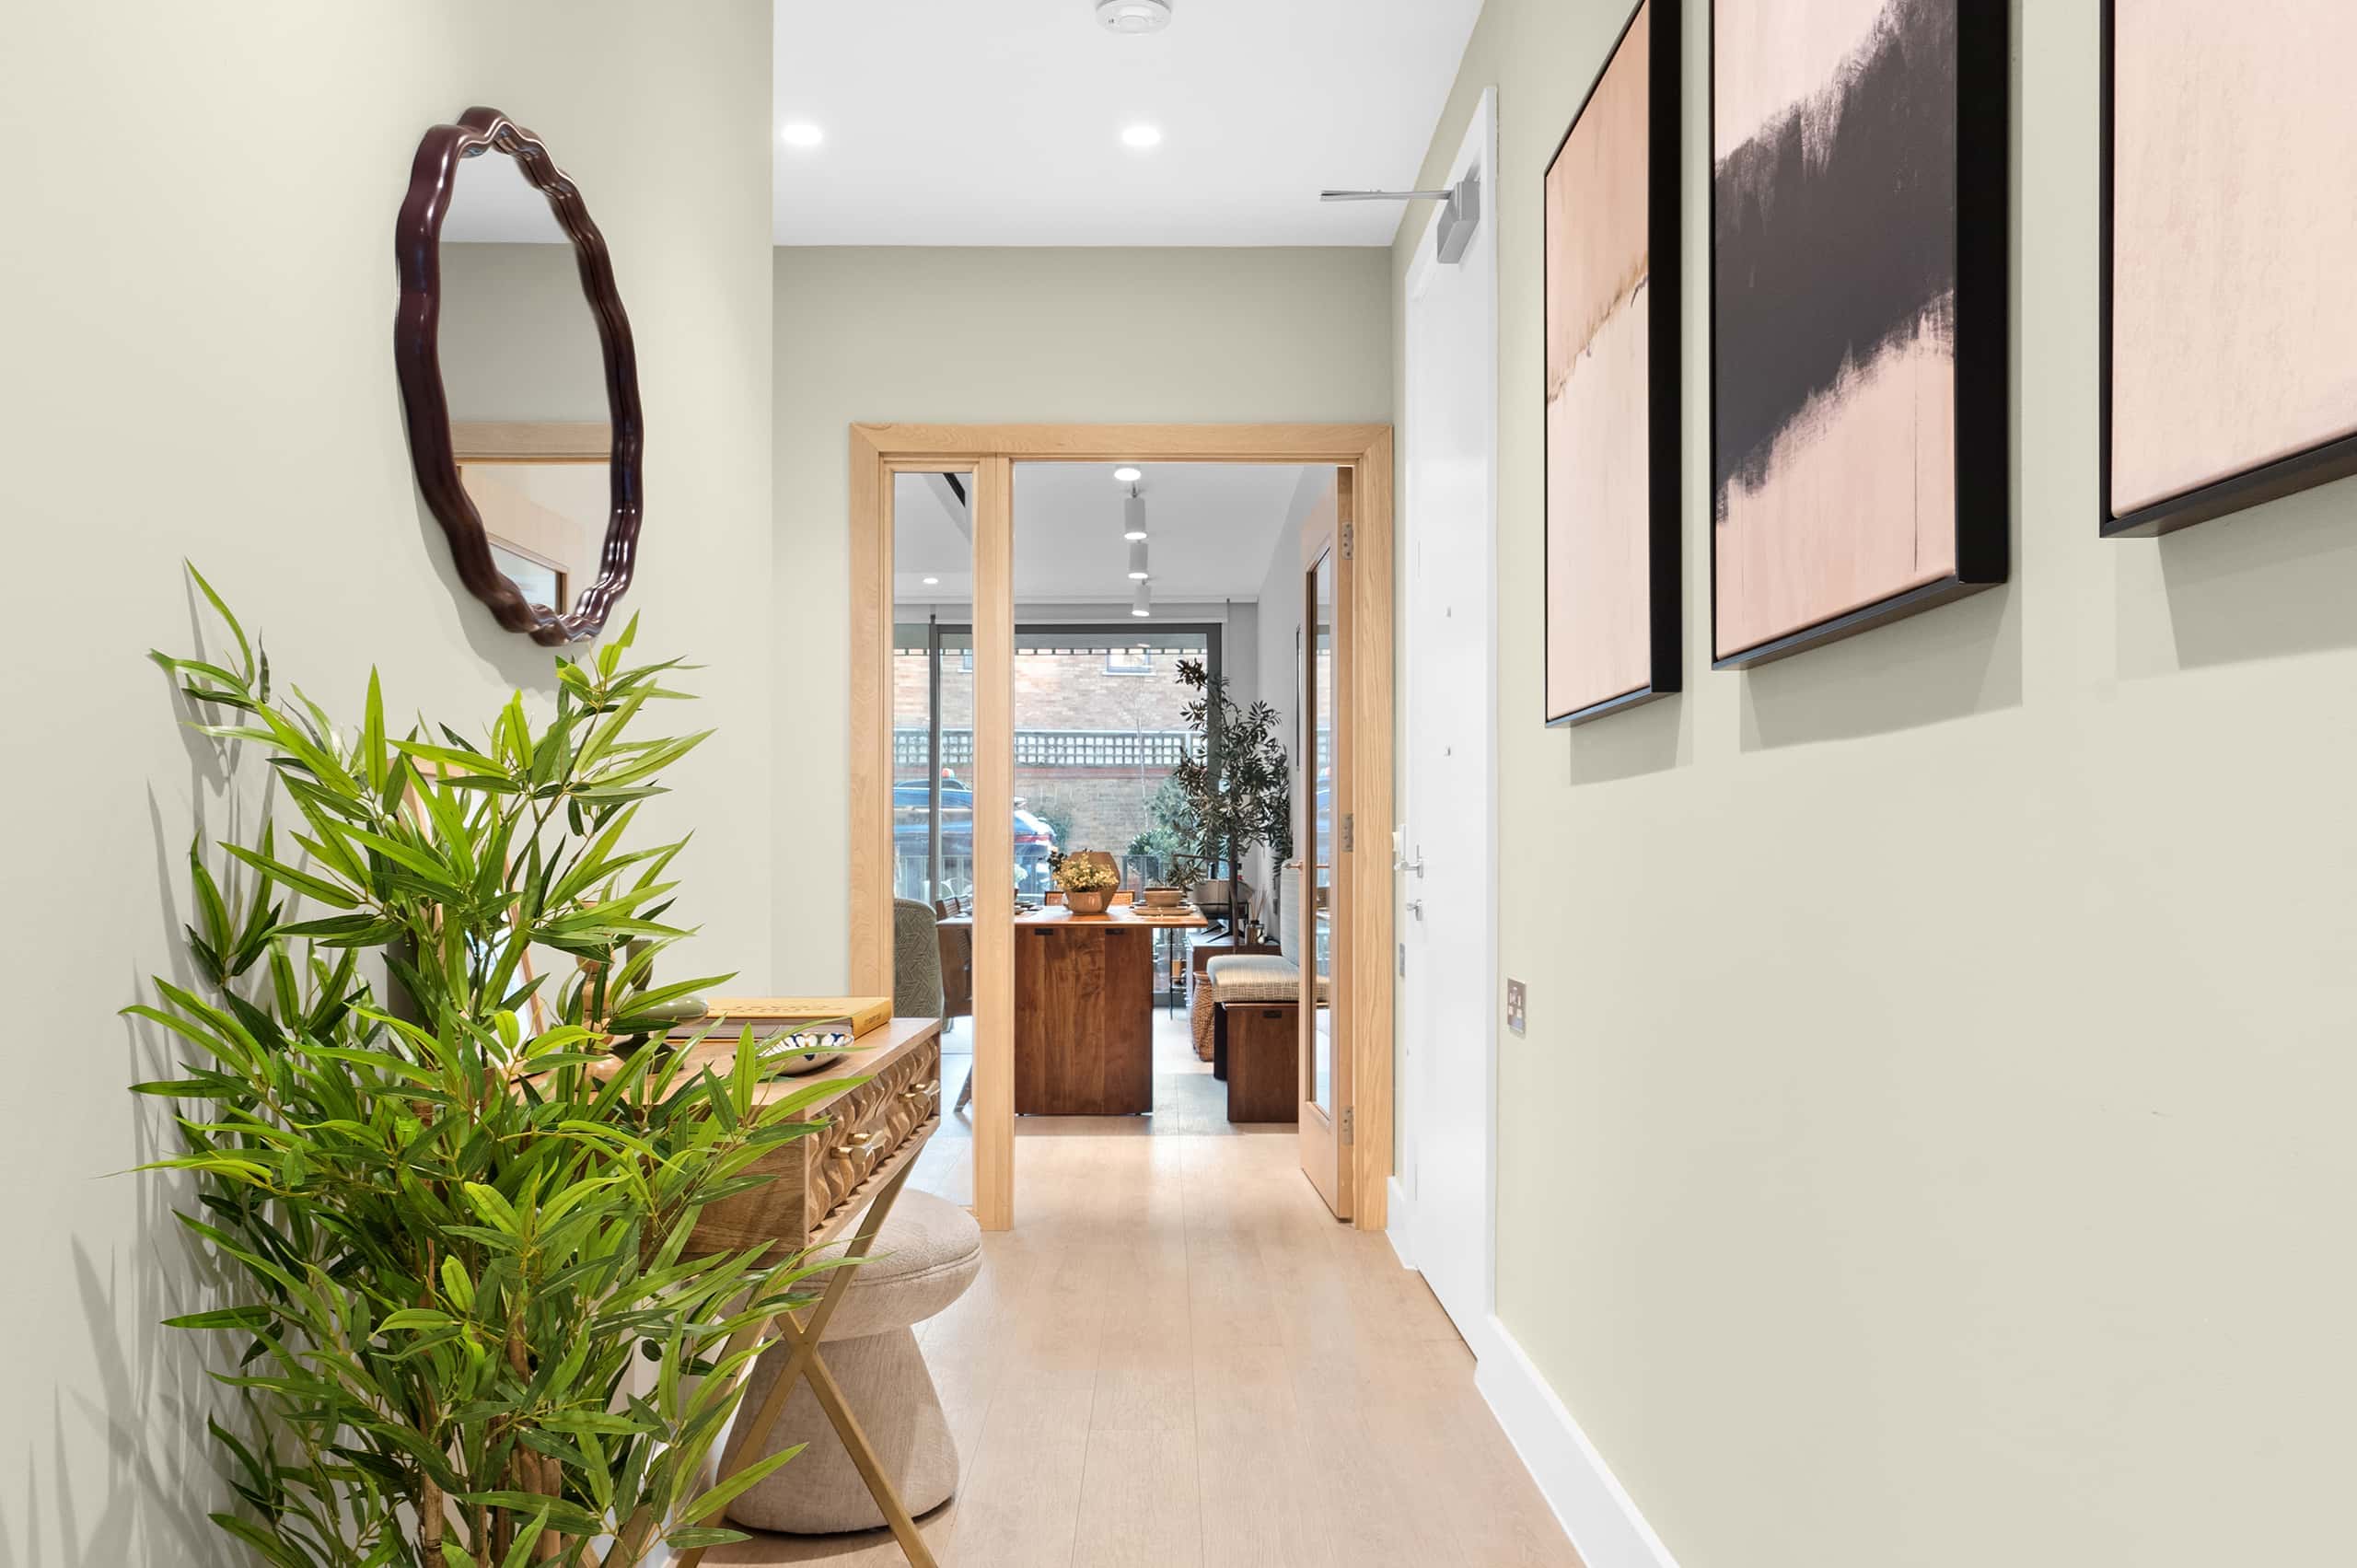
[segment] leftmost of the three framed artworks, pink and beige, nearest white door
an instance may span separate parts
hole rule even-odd
[[[1678,691],[1678,5],[1546,167],[1546,722]]]

